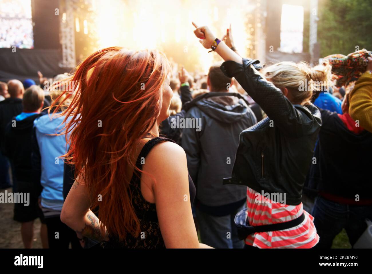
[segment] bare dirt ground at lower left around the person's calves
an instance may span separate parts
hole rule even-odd
[[[12,188],[0,189],[0,192],[12,192]],[[0,248],[23,248],[21,224],[13,220],[14,204],[0,203]],[[33,225],[32,248],[42,248],[40,239],[40,220]]]

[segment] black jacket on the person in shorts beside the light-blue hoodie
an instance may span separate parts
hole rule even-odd
[[[39,117],[39,114],[16,121],[15,127],[12,126],[12,122],[9,122],[5,130],[5,153],[12,162],[14,174],[18,181],[33,182],[31,136],[33,121],[37,117]],[[13,120],[15,120],[15,117]]]

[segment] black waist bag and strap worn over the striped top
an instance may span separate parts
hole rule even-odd
[[[247,238],[248,235],[251,235],[256,232],[268,232],[289,229],[291,227],[298,226],[305,220],[305,214],[302,213],[301,216],[288,222],[282,222],[277,224],[264,224],[262,226],[249,226],[247,225],[248,223],[247,210],[248,208],[239,211],[235,215],[234,219],[235,225],[238,228],[238,237],[240,240],[244,240]]]

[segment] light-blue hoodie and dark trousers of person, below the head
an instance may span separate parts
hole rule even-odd
[[[41,184],[40,207],[48,228],[49,248],[81,248],[76,233],[60,220],[63,206],[64,160],[67,152],[64,116],[43,115],[34,121],[32,163],[35,178]]]

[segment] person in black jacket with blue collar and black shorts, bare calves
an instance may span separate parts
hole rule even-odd
[[[44,218],[38,206],[41,188],[35,186],[31,162],[31,136],[33,121],[39,117],[44,106],[44,91],[36,85],[29,87],[23,95],[23,111],[13,117],[5,128],[4,153],[9,157],[14,169],[14,192],[29,193],[26,205],[15,203],[14,220],[21,223],[21,235],[25,248],[32,248],[33,221]],[[46,243],[46,227],[42,225],[41,239]]]

